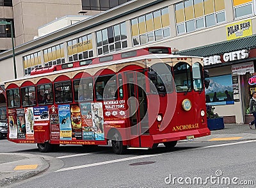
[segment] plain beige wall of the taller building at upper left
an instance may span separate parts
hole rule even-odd
[[[33,40],[38,35],[38,27],[65,15],[77,15],[80,10],[81,0],[14,1],[13,19],[17,45]]]

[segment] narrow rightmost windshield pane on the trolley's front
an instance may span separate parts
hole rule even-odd
[[[192,73],[193,73],[193,86],[195,91],[202,91],[202,65],[200,63],[194,63],[192,65]]]

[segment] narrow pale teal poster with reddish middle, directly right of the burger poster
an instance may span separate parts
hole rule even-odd
[[[81,103],[81,116],[82,116],[82,126],[83,126],[83,139],[93,140],[94,133],[92,127],[92,106],[90,102]]]

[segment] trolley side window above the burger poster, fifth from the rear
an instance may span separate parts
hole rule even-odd
[[[79,79],[74,83],[74,98],[75,101],[92,100],[92,78]]]

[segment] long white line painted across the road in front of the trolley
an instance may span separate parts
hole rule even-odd
[[[240,142],[220,144],[220,145],[203,146],[203,147],[200,147],[200,148],[192,148],[192,149],[188,149],[188,150],[179,150],[179,151],[175,151],[175,152],[158,153],[158,154],[152,154],[152,155],[139,155],[139,156],[127,157],[127,158],[123,158],[123,159],[115,159],[115,160],[111,160],[111,161],[95,162],[95,163],[92,163],[92,164],[84,164],[84,165],[80,165],[80,166],[72,166],[72,167],[68,167],[68,168],[61,168],[61,169],[58,169],[55,172],[68,171],[68,170],[80,169],[80,168],[88,168],[88,167],[92,167],[92,166],[100,166],[100,165],[103,165],[103,164],[111,164],[111,163],[114,163],[114,162],[131,161],[131,160],[134,160],[134,159],[143,159],[143,158],[147,158],[147,157],[156,157],[158,155],[166,155],[166,154],[170,154],[170,153],[178,153],[178,152],[184,152],[184,151],[187,152],[187,151],[192,151],[192,150],[202,150],[202,149],[205,149],[205,148],[216,148],[216,147],[221,147],[221,146],[239,145],[239,144],[243,144],[243,143],[252,143],[252,142],[256,142],[256,140],[240,141]],[[85,153],[85,154],[87,154],[87,153]]]

